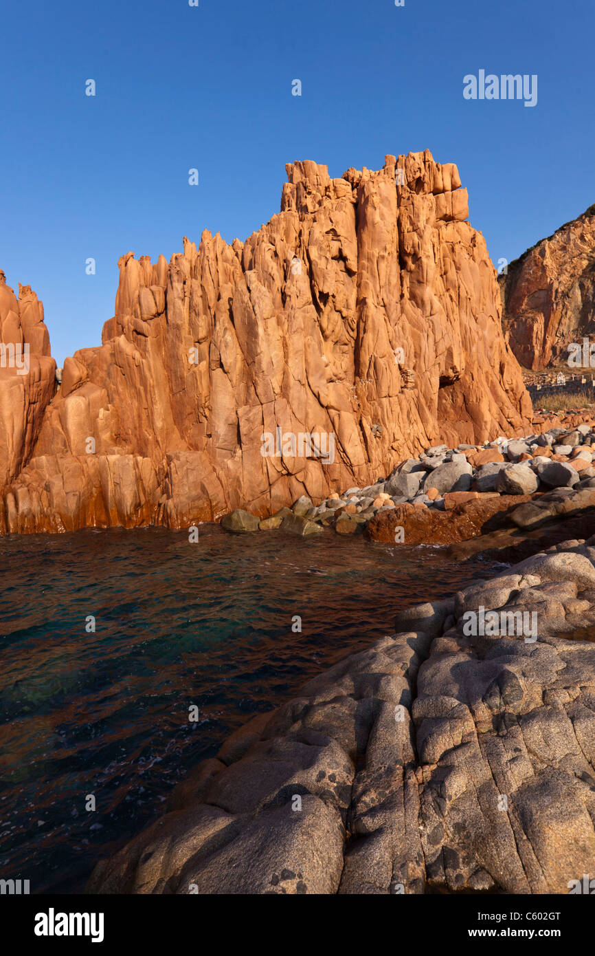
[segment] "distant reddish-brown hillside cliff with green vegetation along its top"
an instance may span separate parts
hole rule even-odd
[[[499,276],[502,325],[525,368],[568,359],[595,333],[595,206],[511,262]]]

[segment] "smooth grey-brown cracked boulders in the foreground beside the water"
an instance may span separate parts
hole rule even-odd
[[[96,893],[568,893],[595,868],[595,539],[450,600],[259,714]]]

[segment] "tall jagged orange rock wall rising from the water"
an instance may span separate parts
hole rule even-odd
[[[426,151],[287,176],[281,212],[244,244],[204,232],[169,265],[119,260],[116,315],[101,347],[66,359],[27,467],[0,491],[0,530],[262,516],[369,485],[436,441],[526,433],[457,167]],[[333,454],[282,439],[264,457],[278,428]]]

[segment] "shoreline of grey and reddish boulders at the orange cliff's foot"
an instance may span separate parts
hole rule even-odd
[[[330,527],[412,545],[454,545],[492,534],[489,544],[498,547],[495,532],[531,532],[568,511],[562,499],[577,508],[595,505],[592,419],[485,445],[429,447],[372,486],[334,492],[317,505],[302,496],[265,518],[236,509],[221,523],[233,533],[281,529],[308,537]]]

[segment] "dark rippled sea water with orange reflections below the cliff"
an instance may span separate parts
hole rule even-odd
[[[79,891],[231,730],[489,572],[330,530],[0,538],[0,878]]]

